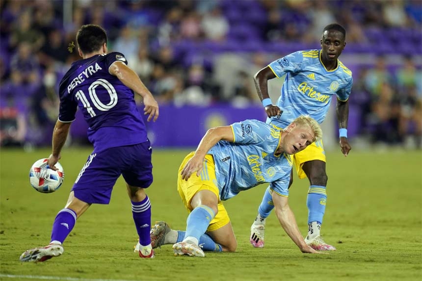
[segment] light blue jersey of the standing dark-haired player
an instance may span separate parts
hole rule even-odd
[[[280,118],[268,118],[267,123],[286,128],[301,114],[322,123],[333,95],[347,101],[353,84],[352,72],[340,60],[336,69],[327,71],[320,56],[321,50],[296,51],[268,65],[276,77],[286,74],[286,78],[277,100],[283,113]]]

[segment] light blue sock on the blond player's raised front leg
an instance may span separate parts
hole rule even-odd
[[[194,208],[187,216],[185,238],[192,236],[199,241],[201,235],[207,231],[214,216],[214,211],[209,206],[200,205]]]

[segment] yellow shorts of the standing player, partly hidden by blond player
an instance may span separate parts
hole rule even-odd
[[[299,179],[305,179],[306,174],[302,170],[303,163],[311,160],[321,160],[325,162],[325,151],[322,140],[313,142],[310,146],[301,152],[293,154],[293,165],[296,168]]]

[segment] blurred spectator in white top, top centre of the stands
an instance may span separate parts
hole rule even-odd
[[[229,23],[217,6],[203,16],[201,26],[205,37],[211,41],[222,41],[229,32]]]

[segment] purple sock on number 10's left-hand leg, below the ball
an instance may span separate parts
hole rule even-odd
[[[73,230],[75,223],[76,212],[68,208],[61,209],[54,219],[51,241],[59,241],[63,244],[67,235]]]

